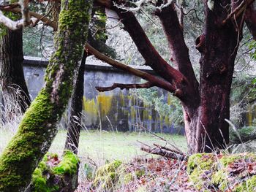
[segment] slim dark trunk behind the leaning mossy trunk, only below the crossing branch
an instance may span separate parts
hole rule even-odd
[[[75,81],[75,88],[71,98],[70,118],[67,128],[67,139],[65,149],[71,150],[73,153],[78,154],[78,145],[80,137],[81,126],[81,113],[83,108],[83,81],[84,70],[86,64],[87,53],[83,53],[83,58],[78,69],[78,77]]]

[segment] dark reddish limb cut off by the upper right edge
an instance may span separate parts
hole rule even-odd
[[[256,40],[256,9],[253,4],[246,9],[245,22],[252,34],[253,39]]]

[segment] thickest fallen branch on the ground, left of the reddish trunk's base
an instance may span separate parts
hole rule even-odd
[[[160,147],[140,147],[140,150],[143,150],[147,153],[151,153],[151,154],[154,154],[154,155],[161,155],[165,158],[171,158],[171,159],[177,159],[177,160],[180,160],[180,161],[183,161],[183,160],[187,160],[187,155],[180,155],[180,154],[177,154],[177,153],[173,153],[169,150],[164,150]]]

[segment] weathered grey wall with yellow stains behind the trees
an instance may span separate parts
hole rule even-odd
[[[32,99],[42,88],[47,64],[47,61],[40,58],[26,58],[24,61],[24,74]],[[139,68],[153,73],[150,68]],[[132,91],[121,91],[117,88],[113,91],[99,93],[95,89],[95,86],[109,86],[113,82],[140,82],[140,78],[105,64],[86,64],[84,77],[83,123],[86,128],[138,131],[145,127],[154,132],[184,134],[183,128],[175,128],[167,117],[161,117],[154,107],[143,104]],[[165,91],[164,94],[167,100],[170,95]]]

